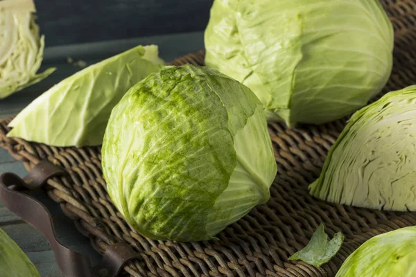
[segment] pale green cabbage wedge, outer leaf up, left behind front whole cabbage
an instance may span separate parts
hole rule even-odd
[[[114,106],[160,64],[157,46],[137,46],[88,66],[21,111],[8,136],[62,147],[101,145]]]

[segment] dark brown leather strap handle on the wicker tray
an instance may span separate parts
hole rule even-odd
[[[28,222],[42,232],[49,241],[56,262],[66,277],[116,277],[126,262],[138,258],[138,254],[125,242],[119,242],[109,247],[103,260],[92,267],[89,258],[81,253],[64,247],[56,237],[51,214],[39,201],[24,193],[19,188],[34,190],[41,188],[52,177],[66,175],[66,172],[49,161],[41,161],[24,179],[13,173],[0,175],[0,202],[12,213]]]

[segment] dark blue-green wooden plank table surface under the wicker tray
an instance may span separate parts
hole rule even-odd
[[[204,47],[203,33],[197,32],[46,48],[42,68],[55,66],[58,71],[39,84],[0,100],[0,118],[17,114],[53,84],[80,70],[79,67],[68,64],[67,57],[72,57],[73,60],[85,60],[87,64],[92,64],[139,44],[159,45],[160,56],[166,61],[171,61],[186,53],[196,52]],[[14,172],[20,177],[26,175],[23,164],[12,159],[6,150],[0,148],[0,174],[3,172]],[[92,264],[95,265],[101,256],[91,247],[89,239],[78,233],[73,222],[62,213],[58,204],[40,193],[33,196],[40,199],[49,208],[60,242],[89,256],[92,259]],[[40,271],[41,276],[62,276],[55,262],[53,251],[42,234],[10,213],[1,204],[0,228],[6,231],[10,238],[23,249]]]

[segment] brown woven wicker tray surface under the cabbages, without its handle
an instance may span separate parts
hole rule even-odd
[[[395,66],[385,91],[416,83],[416,0],[382,1],[395,26]],[[173,64],[203,64],[204,53],[190,54]],[[66,168],[70,177],[49,180],[48,195],[60,204],[78,230],[103,253],[124,240],[141,260],[125,266],[131,276],[334,276],[343,260],[365,240],[379,233],[416,225],[416,213],[372,211],[313,199],[307,186],[318,177],[331,145],[345,120],[321,126],[287,129],[270,123],[279,168],[271,199],[229,226],[216,242],[162,242],[142,237],[123,220],[105,190],[101,149],[55,148],[6,138],[10,118],[0,120],[0,147],[23,161],[28,170],[48,159]],[[318,224],[329,235],[345,234],[342,249],[322,267],[289,262]]]

